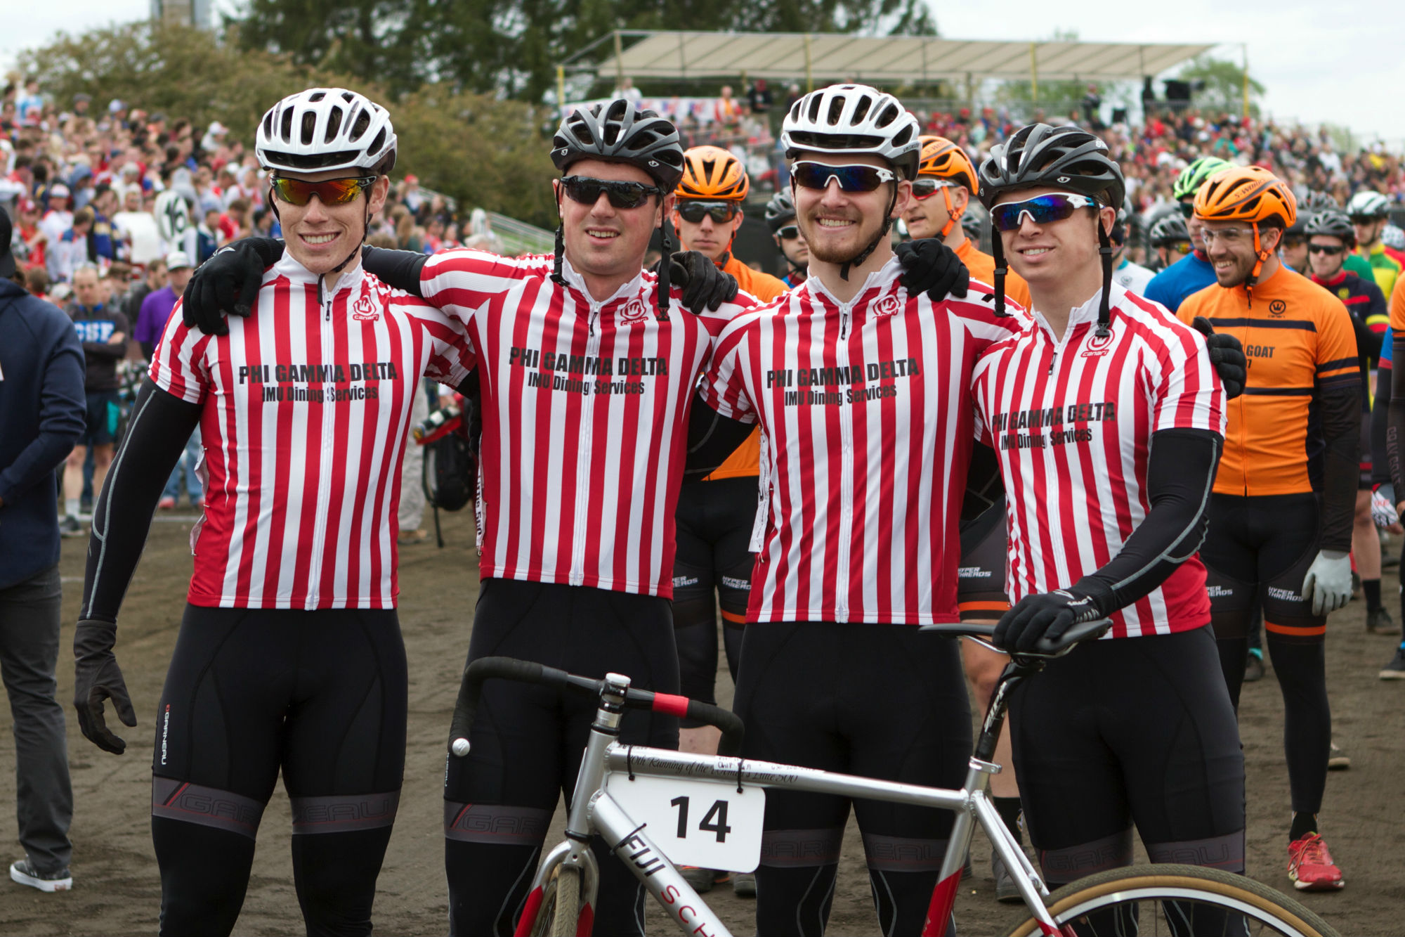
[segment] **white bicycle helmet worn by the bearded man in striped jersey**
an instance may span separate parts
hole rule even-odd
[[[791,106],[781,121],[785,158],[801,151],[873,153],[903,179],[917,177],[917,118],[892,94],[867,84],[830,84]]]

